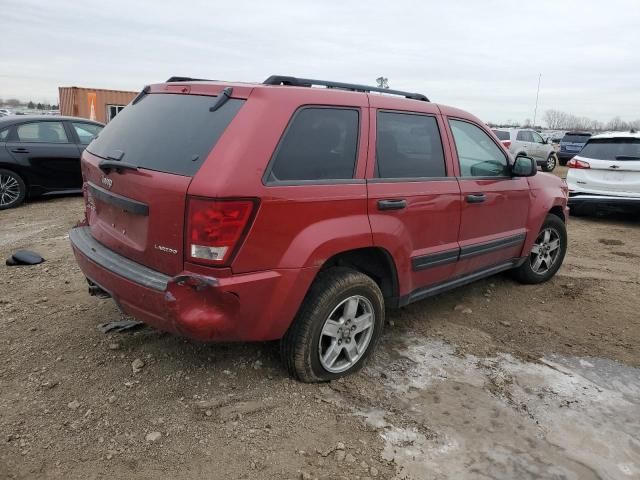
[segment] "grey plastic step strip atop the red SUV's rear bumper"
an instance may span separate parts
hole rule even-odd
[[[89,227],[71,229],[69,240],[85,257],[111,273],[159,292],[164,292],[167,289],[171,277],[108,249],[91,236]]]

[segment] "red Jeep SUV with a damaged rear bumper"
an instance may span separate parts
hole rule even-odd
[[[409,92],[172,77],[82,172],[70,239],[91,293],[197,340],[281,339],[303,381],[360,368],[385,307],[504,270],[543,282],[567,248],[564,182]]]

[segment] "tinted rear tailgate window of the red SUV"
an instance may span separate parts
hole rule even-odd
[[[193,176],[244,100],[231,98],[214,112],[216,97],[150,94],[128,105],[89,144],[103,158],[140,168]]]

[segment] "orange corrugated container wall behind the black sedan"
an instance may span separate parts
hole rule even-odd
[[[95,97],[95,120],[107,123],[107,105],[128,105],[138,92],[82,87],[59,87],[60,114],[91,118],[90,99]]]

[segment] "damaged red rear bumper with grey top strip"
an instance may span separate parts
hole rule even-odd
[[[159,330],[201,341],[281,338],[317,269],[279,269],[215,278],[170,277],[98,243],[89,227],[69,232],[84,275],[127,314]]]

